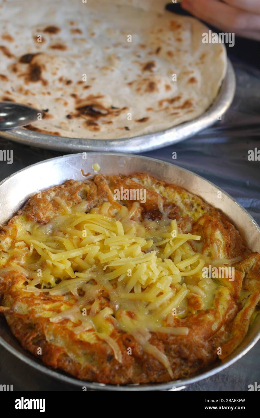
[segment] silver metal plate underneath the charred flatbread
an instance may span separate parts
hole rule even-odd
[[[175,144],[195,135],[199,131],[213,125],[220,115],[223,115],[230,107],[235,94],[235,72],[228,60],[225,79],[220,87],[218,97],[210,108],[200,117],[189,122],[182,123],[170,129],[115,140],[98,140],[82,138],[66,138],[55,135],[47,135],[30,131],[25,128],[0,131],[0,136],[8,140],[20,142],[25,145],[33,145],[51,150],[79,152],[125,152],[141,153],[156,150],[167,145]]]

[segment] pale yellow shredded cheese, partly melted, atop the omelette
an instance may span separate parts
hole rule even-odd
[[[149,343],[150,332],[187,335],[188,328],[174,326],[173,314],[189,314],[189,293],[200,297],[204,308],[212,303],[217,285],[203,279],[207,260],[188,243],[200,236],[182,234],[176,220],[166,215],[158,222],[137,220],[137,202],[130,212],[122,206],[110,217],[108,202],[85,214],[56,201],[64,214],[47,225],[29,222],[25,215],[16,217],[17,235],[8,250],[11,261],[2,272],[23,274],[28,292],[72,293],[77,302],[52,315],[51,322],[66,319],[77,335],[95,331],[118,362],[122,353],[112,331],[133,334],[172,376],[168,358]],[[100,307],[101,290],[109,295],[109,307]]]

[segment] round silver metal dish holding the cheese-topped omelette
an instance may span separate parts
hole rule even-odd
[[[0,223],[7,222],[23,206],[25,201],[37,191],[60,184],[69,178],[75,180],[84,179],[80,169],[82,168],[85,173],[88,171],[92,173],[93,163],[100,165],[100,173],[129,174],[135,171],[144,171],[168,183],[176,184],[194,194],[198,194],[206,202],[222,210],[232,219],[233,224],[239,230],[250,250],[260,252],[260,228],[248,212],[231,196],[191,171],[174,164],[136,155],[89,153],[87,154],[87,159],[83,159],[82,153],[79,153],[52,158],[24,168],[0,183]],[[222,192],[221,199],[218,198],[218,191]],[[230,357],[225,359],[224,362],[216,362],[208,370],[195,377],[164,384],[116,386],[77,380],[65,372],[52,370],[50,367],[45,366],[40,360],[22,348],[18,340],[11,334],[5,319],[3,317],[0,318],[0,344],[3,347],[23,362],[48,376],[55,377],[77,387],[82,388],[82,386],[85,386],[89,390],[139,391],[175,390],[175,388],[176,390],[181,390],[190,383],[198,382],[230,366],[230,364],[233,364],[246,354],[258,339],[260,339],[260,316],[257,316],[254,323],[250,326],[246,338]]]

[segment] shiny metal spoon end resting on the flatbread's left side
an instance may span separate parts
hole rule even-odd
[[[0,102],[0,130],[29,125],[37,120],[40,110],[14,102]]]

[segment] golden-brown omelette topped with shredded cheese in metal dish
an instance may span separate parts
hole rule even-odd
[[[0,250],[12,333],[82,380],[196,375],[260,311],[260,255],[222,212],[147,173],[87,173],[38,192],[1,227]]]

